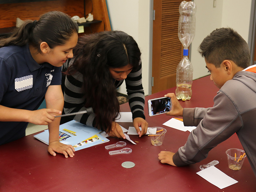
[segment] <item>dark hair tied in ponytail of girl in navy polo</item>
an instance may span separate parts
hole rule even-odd
[[[26,20],[10,37],[1,39],[0,48],[29,44],[41,53],[42,42],[46,42],[52,49],[65,44],[74,33],[78,33],[78,25],[70,16],[59,11],[47,12],[38,21]]]

